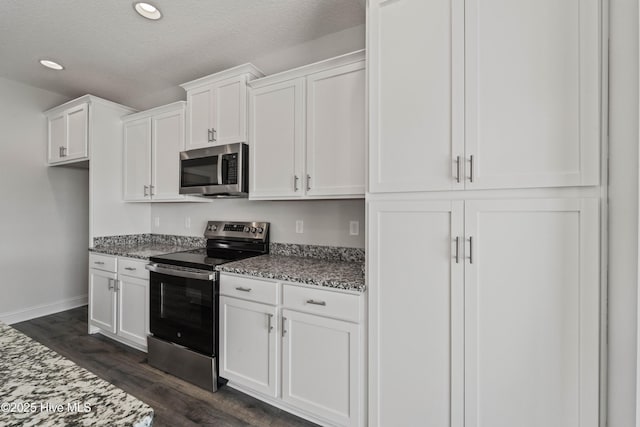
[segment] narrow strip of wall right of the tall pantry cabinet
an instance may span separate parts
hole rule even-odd
[[[638,1],[610,0],[609,427],[635,425]]]

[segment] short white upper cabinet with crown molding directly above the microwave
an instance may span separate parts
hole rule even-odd
[[[181,86],[187,91],[186,149],[247,141],[247,82],[262,77],[244,64]]]

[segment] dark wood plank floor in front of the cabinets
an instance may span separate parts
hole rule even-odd
[[[14,328],[151,406],[154,427],[315,426],[229,387],[210,393],[146,363],[146,354],[87,334],[81,307]]]

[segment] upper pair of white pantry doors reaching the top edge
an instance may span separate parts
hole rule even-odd
[[[370,2],[370,191],[598,185],[599,11]]]

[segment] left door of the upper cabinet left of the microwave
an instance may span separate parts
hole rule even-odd
[[[124,200],[149,200],[151,193],[151,119],[124,124]]]

